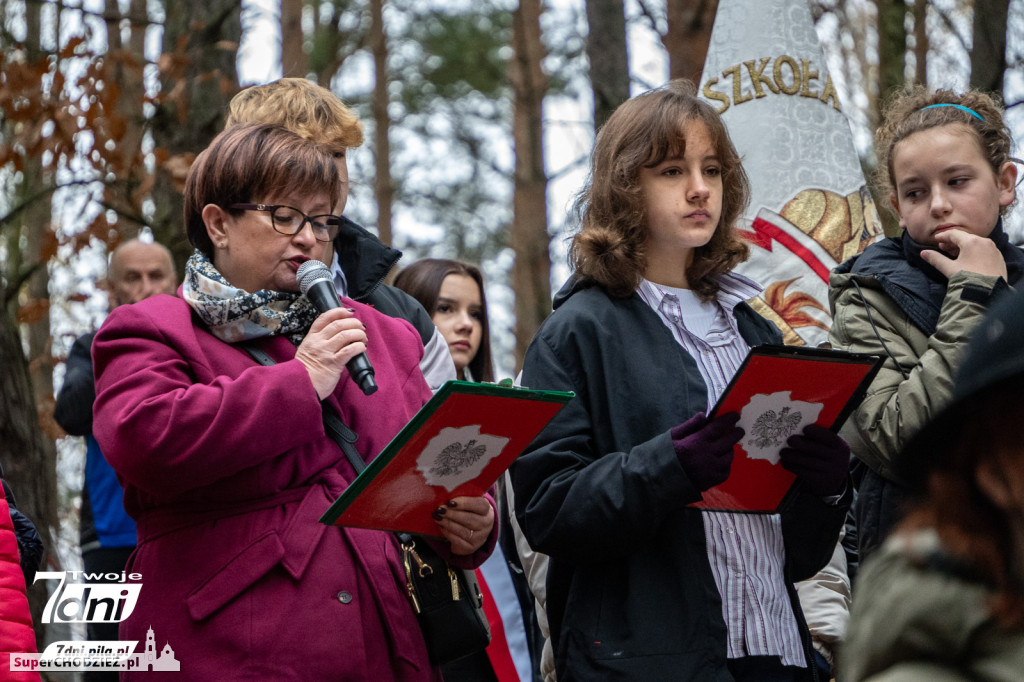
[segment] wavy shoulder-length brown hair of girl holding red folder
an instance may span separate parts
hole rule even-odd
[[[698,99],[696,87],[674,80],[618,106],[601,127],[590,173],[577,197],[580,230],[569,247],[569,265],[585,280],[625,298],[640,284],[647,259],[647,207],[640,169],[653,168],[686,146],[686,129],[703,123],[722,164],[722,216],[711,241],[694,250],[686,270],[690,287],[706,300],[715,297],[719,278],[746,259],[746,243],[736,221],[750,203],[750,181],[722,119]]]

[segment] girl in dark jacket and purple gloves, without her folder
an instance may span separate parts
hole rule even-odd
[[[793,581],[828,560],[849,449],[791,436],[781,514],[690,505],[729,475],[738,415],[709,420],[751,346],[779,332],[731,272],[749,184],[692,84],[621,105],[577,202],[574,274],[530,344],[522,384],[575,397],[511,470],[516,515],[550,555],[548,619],[565,680],[813,679]]]

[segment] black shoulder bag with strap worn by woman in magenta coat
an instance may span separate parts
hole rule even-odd
[[[274,365],[255,344],[240,344],[260,365]],[[324,429],[341,447],[358,474],[366,469],[355,450],[358,434],[322,401]],[[483,596],[473,570],[453,568],[426,542],[408,532],[395,532],[406,570],[406,593],[423,630],[430,663],[441,666],[486,648],[490,625],[483,613]]]

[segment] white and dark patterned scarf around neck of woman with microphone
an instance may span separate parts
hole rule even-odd
[[[299,294],[232,287],[210,259],[196,251],[185,263],[182,296],[210,332],[226,343],[287,336],[295,345],[316,319],[316,308]]]

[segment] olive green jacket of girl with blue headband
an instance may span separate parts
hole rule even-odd
[[[953,375],[968,338],[981,322],[991,294],[1006,283],[974,272],[951,276],[931,335],[912,322],[873,275],[835,271],[828,285],[833,347],[885,358],[841,435],[868,467],[898,481],[891,468],[893,457],[950,402]]]

